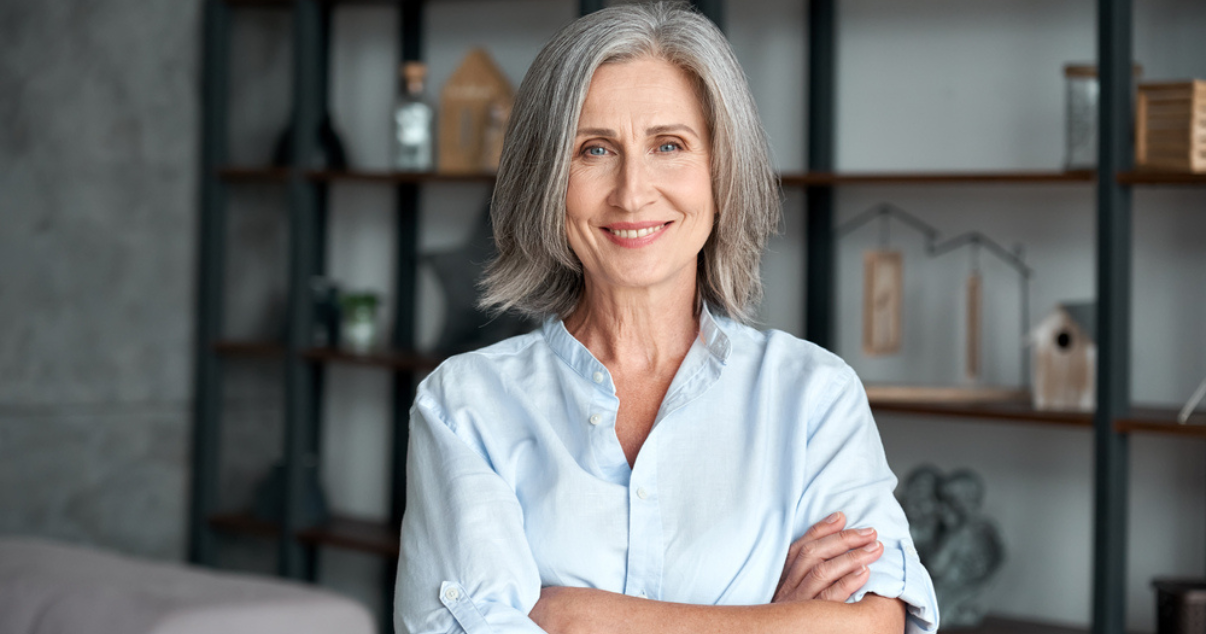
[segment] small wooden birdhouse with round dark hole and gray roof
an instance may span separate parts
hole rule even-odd
[[[1036,410],[1096,406],[1096,306],[1061,304],[1030,331]]]

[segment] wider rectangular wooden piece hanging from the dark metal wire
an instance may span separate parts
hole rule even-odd
[[[862,262],[862,352],[895,354],[901,350],[903,259],[898,251],[868,251]]]

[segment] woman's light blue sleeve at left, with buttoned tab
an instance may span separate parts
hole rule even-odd
[[[540,577],[511,487],[420,388],[410,410],[394,629],[539,633]]]

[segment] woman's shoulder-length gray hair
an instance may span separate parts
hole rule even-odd
[[[484,309],[568,316],[582,266],[566,234],[578,116],[595,70],[639,58],[695,77],[712,139],[716,225],[699,254],[697,295],[748,322],[762,297],[759,263],[780,218],[779,186],[745,75],[724,34],[679,4],[625,5],[585,16],[537,55],[520,84],[503,145],[491,221],[498,256],[481,282]]]

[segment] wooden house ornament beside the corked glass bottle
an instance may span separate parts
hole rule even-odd
[[[490,54],[474,48],[440,90],[438,168],[441,172],[494,171],[515,92]],[[500,118],[502,117],[502,118]]]

